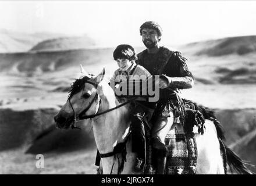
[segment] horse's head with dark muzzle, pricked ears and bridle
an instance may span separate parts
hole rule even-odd
[[[99,107],[99,88],[105,75],[105,69],[98,76],[89,75],[81,67],[82,77],[72,84],[65,105],[54,117],[56,127],[69,128],[81,115],[94,115]]]

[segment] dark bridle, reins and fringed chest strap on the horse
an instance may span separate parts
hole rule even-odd
[[[76,82],[75,82],[76,83]],[[88,81],[88,79],[85,79],[83,80],[83,83],[89,83],[89,84],[92,84],[94,85],[95,88],[98,87],[98,84],[97,83],[94,83],[94,82],[91,82],[91,81]],[[74,85],[74,84],[73,84]],[[78,86],[79,87],[79,86]],[[81,88],[81,86],[79,87]],[[72,106],[72,103],[70,102],[70,98],[72,97],[72,95],[74,95],[74,93],[71,92],[71,94],[69,95],[69,98],[68,98],[68,101],[69,101],[69,104],[73,110],[73,113],[74,113],[74,118],[72,119],[73,123],[72,123],[72,126],[71,128],[74,129],[74,128],[77,128],[77,129],[81,129],[79,127],[76,127],[76,122],[79,121],[79,120],[85,120],[85,119],[92,119],[96,116],[100,116],[100,115],[104,115],[105,113],[108,113],[108,112],[111,112],[112,110],[115,110],[115,109],[118,109],[122,106],[125,106],[127,105],[128,103],[130,103],[131,101],[133,101],[135,98],[133,99],[130,99],[129,101],[126,101],[118,106],[116,106],[115,108],[112,108],[112,109],[108,109],[108,110],[105,110],[104,112],[100,112],[98,113],[98,110],[99,110],[99,107],[101,105],[101,98],[99,96],[98,93],[95,94],[93,100],[89,103],[89,105],[87,106],[87,108],[85,108],[84,110],[82,110],[80,112],[79,115],[77,115],[76,111],[74,111],[74,108]],[[91,106],[93,105],[93,103],[98,99],[98,109],[97,111],[95,112],[94,115],[84,115],[90,108]],[[115,165],[115,161],[116,161],[116,158],[118,158],[118,174],[122,173],[123,171],[123,167],[124,167],[124,164],[126,162],[126,154],[127,154],[127,151],[126,151],[126,142],[129,140],[130,138],[130,133],[131,131],[129,131],[129,133],[127,134],[127,137],[126,137],[126,140],[124,142],[120,142],[119,144],[117,144],[114,148],[113,148],[113,151],[112,152],[109,152],[109,153],[99,153],[99,151],[97,151],[98,155],[101,157],[101,158],[107,158],[107,157],[111,157],[113,156],[113,165],[112,165],[112,169],[111,169],[111,173],[112,174],[112,171],[113,171],[113,166]],[[120,163],[120,155],[122,157],[122,162]]]

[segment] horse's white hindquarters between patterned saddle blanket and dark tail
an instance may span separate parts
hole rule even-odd
[[[196,134],[197,174],[224,174],[223,160],[214,123],[205,120],[205,133]]]

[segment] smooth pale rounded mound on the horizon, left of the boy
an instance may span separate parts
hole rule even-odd
[[[95,46],[95,42],[84,35],[83,37],[54,38],[39,42],[30,51],[62,51],[70,49],[87,49]]]

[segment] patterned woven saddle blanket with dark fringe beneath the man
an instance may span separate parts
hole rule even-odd
[[[197,144],[194,126],[198,127],[198,133],[204,133],[204,117],[199,110],[194,110],[191,105],[186,105],[186,121],[184,126],[179,118],[175,122],[165,138],[168,149],[165,174],[195,174],[197,169]],[[146,134],[146,163],[144,174],[155,174],[155,158],[150,144],[150,131]]]

